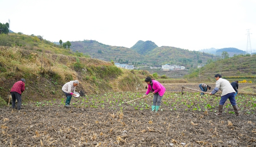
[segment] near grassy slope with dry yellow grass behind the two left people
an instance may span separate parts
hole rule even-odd
[[[134,73],[110,62],[78,57],[83,54],[60,49],[46,40],[33,42],[28,35],[0,37],[1,43],[8,43],[0,46],[0,99],[6,100],[20,78],[26,79],[23,101],[64,98],[61,87],[71,80],[80,81],[76,90],[81,94],[142,89],[142,82]]]

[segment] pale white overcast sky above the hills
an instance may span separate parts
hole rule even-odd
[[[59,42],[96,40],[256,52],[256,0],[0,0],[0,23]],[[248,47],[250,49],[250,47]],[[250,53],[250,51],[248,51]]]

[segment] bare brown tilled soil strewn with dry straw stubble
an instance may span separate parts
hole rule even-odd
[[[198,84],[164,84],[167,92],[177,91],[177,96],[182,85],[199,89]],[[239,84],[239,88],[248,85]],[[108,101],[115,100],[113,96],[108,97]],[[74,101],[72,99],[71,103]],[[144,103],[150,105],[151,98]],[[61,99],[44,104],[23,104],[19,112],[7,106],[1,108],[0,147],[256,146],[256,117],[243,112],[240,116],[228,113],[215,116],[214,112],[193,111],[192,108],[171,111],[171,106],[162,104],[156,113],[151,112],[150,107],[135,110],[125,103],[105,103],[99,108],[74,105],[65,108]],[[227,108],[227,111],[233,109]]]

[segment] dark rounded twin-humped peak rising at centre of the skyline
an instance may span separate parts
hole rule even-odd
[[[147,52],[151,52],[154,48],[157,48],[157,47],[158,46],[152,41],[139,40],[130,49],[136,51],[140,55],[145,55]]]

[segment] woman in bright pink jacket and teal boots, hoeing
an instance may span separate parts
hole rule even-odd
[[[158,81],[154,79],[151,79],[150,77],[145,78],[145,82],[148,84],[148,90],[145,93],[145,95],[143,95],[143,98],[145,98],[145,96],[148,95],[149,92],[153,92],[154,97],[151,109],[152,111],[157,112],[161,105],[163,94],[166,91],[166,89],[162,84],[160,84]]]

